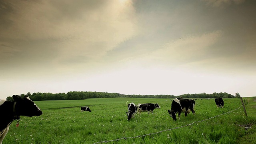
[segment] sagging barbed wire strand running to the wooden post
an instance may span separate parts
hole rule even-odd
[[[244,104],[242,104],[239,108],[241,108],[243,105],[244,105]],[[196,124],[196,123],[198,123],[198,122],[203,122],[203,121],[206,121],[206,120],[210,120],[210,119],[212,119],[212,118],[216,118],[216,117],[218,117],[218,116],[222,116],[222,115],[224,115],[224,114],[228,114],[228,113],[234,112],[234,111],[238,110],[239,108],[236,108],[236,109],[234,109],[234,110],[232,110],[232,111],[230,111],[230,112],[226,112],[226,113],[223,113],[223,114],[219,114],[219,115],[213,116],[213,117],[211,117],[211,118],[207,118],[207,119],[200,120],[200,121],[197,121],[197,122],[192,122],[191,124],[187,124],[187,125],[184,125],[184,126],[179,126],[179,127],[176,127],[176,128],[170,128],[170,129],[167,129],[167,130],[162,130],[162,131],[159,131],[159,132],[154,132],[154,133],[150,133],[150,134],[144,134],[144,135],[140,135],[140,136],[131,136],[131,137],[127,137],[127,138],[123,137],[123,138],[118,138],[118,139],[115,139],[115,140],[105,140],[105,141],[96,142],[96,143],[93,143],[93,144],[100,144],[100,143],[103,143],[103,142],[105,142],[105,143],[106,143],[106,142],[113,142],[113,141],[117,141],[117,140],[126,140],[126,139],[129,139],[129,138],[139,138],[139,137],[150,136],[150,135],[152,135],[152,134],[158,134],[158,133],[161,133],[161,132],[166,132],[166,131],[170,131],[170,130],[174,130],[174,129],[178,129],[178,128],[183,128],[183,127],[186,127],[186,126],[190,126],[190,125],[192,125],[192,124]]]

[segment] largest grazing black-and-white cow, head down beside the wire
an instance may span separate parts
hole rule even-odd
[[[194,106],[195,106],[194,100],[175,98],[174,100],[172,100],[171,110],[168,110],[168,113],[170,117],[173,118],[173,120],[177,120],[176,113],[178,113],[178,117],[180,120],[181,112],[184,112],[185,116],[187,116],[190,113],[190,111],[192,111],[192,113],[195,115]]]

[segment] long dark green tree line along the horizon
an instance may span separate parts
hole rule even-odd
[[[85,100],[87,98],[234,98],[235,96],[228,94],[226,92],[216,93],[213,94],[182,94],[179,96],[174,95],[136,95],[136,94],[118,94],[118,93],[108,93],[108,92],[68,92],[68,93],[41,93],[36,92],[30,94],[20,94],[21,97],[25,95],[29,96],[33,101],[40,101],[40,100]],[[11,100],[12,96],[8,96],[6,100]]]

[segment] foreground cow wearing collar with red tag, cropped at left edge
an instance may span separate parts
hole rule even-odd
[[[14,120],[17,120],[18,127],[20,116],[40,116],[43,113],[28,96],[13,95],[12,98],[14,101],[0,100],[0,144]]]

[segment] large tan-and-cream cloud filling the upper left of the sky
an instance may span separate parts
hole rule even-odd
[[[50,64],[56,67],[93,65],[137,31],[131,0],[6,0],[1,6],[0,41],[20,52],[20,63],[52,52]]]

